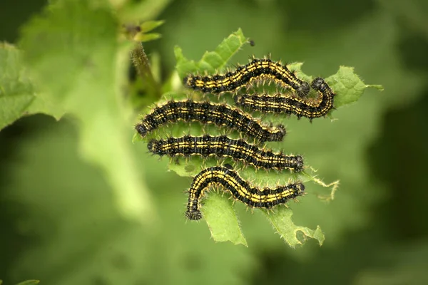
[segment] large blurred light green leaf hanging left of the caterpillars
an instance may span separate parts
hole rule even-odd
[[[106,173],[118,209],[147,220],[151,202],[131,152],[132,110],[122,93],[132,43],[118,44],[117,26],[111,9],[61,1],[24,26],[20,46],[46,102],[78,118],[81,153]]]

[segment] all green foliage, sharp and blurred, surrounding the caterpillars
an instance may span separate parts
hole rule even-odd
[[[282,284],[284,272],[299,284],[426,283],[423,1],[49,2],[16,44],[0,48],[4,284]],[[0,27],[17,27],[26,7],[10,15],[1,9]],[[128,81],[128,53],[135,39],[158,38],[145,27],[156,19],[165,19],[162,38],[144,43],[152,88]],[[127,25],[152,36],[123,36]],[[205,53],[237,27],[255,46],[239,30]],[[304,180],[309,194],[290,209],[250,213],[213,191],[205,199],[208,227],[186,222],[189,176],[215,160],[159,161],[144,142],[131,143],[132,125],[154,102],[188,96],[183,73],[224,71],[269,53],[306,80],[325,77],[338,94],[333,121],[263,118],[289,130],[267,147],[302,154],[317,169],[285,173],[284,180]],[[360,76],[385,91],[366,89]],[[176,127],[153,135],[203,131]],[[261,185],[277,177],[251,167],[240,174]],[[340,190],[329,195],[322,181],[337,179]],[[272,227],[290,244],[315,239],[291,249]],[[216,241],[248,247],[215,243],[210,231]]]

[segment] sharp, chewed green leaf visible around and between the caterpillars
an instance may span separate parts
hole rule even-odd
[[[183,78],[188,73],[203,73],[204,71],[208,73],[215,73],[222,71],[227,65],[228,61],[232,56],[237,53],[243,46],[248,43],[248,38],[245,38],[241,30],[236,31],[231,34],[228,38],[220,43],[220,45],[215,48],[215,51],[205,52],[200,61],[189,61],[183,56],[183,52],[179,47],[175,47],[175,58],[177,59],[177,71],[180,78]],[[295,71],[300,78],[304,78],[307,81],[312,81],[310,76],[305,75],[301,71],[302,63],[290,64],[289,69]],[[335,96],[335,107],[340,108],[342,105],[352,103],[364,92],[368,87],[374,87],[382,89],[382,86],[370,86],[366,85],[361,81],[361,79],[353,73],[353,68],[341,66],[339,71],[334,76],[330,76],[326,79],[327,83],[331,84],[333,90],[337,95]],[[169,94],[170,95],[170,94]],[[175,95],[170,95],[175,98]],[[224,96],[223,96],[224,97]],[[283,120],[284,118],[276,118],[276,120]],[[174,130],[178,133],[188,132],[185,128]],[[177,164],[171,163],[170,169],[177,172],[182,176],[193,176],[196,175],[202,165],[206,163],[195,162],[192,160],[190,162],[190,167],[187,163]],[[192,170],[192,171],[189,171]],[[255,182],[264,182],[272,185],[272,181],[276,180],[286,180],[287,175],[270,173],[266,175],[264,172],[246,172],[248,173],[247,178],[250,181]],[[293,175],[296,176],[296,175]],[[280,177],[280,178],[279,178]],[[296,178],[296,177],[293,177]],[[311,180],[319,183],[322,186],[332,186],[332,191],[336,190],[337,182],[332,183],[331,185],[325,185],[324,182],[318,180],[312,175],[307,175],[303,173],[302,175],[297,175],[297,179],[302,181]],[[219,195],[210,195],[208,198],[208,203],[205,203],[204,207],[204,216],[205,220],[210,227],[211,234],[213,239],[217,241],[230,240],[235,244],[247,244],[243,234],[240,232],[240,226],[238,217],[233,211],[233,204],[225,201],[225,197]],[[213,207],[214,209],[210,209]],[[263,211],[266,213],[266,211]],[[320,245],[324,242],[324,234],[322,234],[321,229],[317,227],[316,230],[308,229],[307,227],[297,227],[292,223],[291,220],[292,210],[285,207],[277,207],[270,214],[267,214],[266,217],[275,228],[275,230],[280,234],[280,236],[285,239],[285,241],[290,244],[291,247],[295,247],[297,244],[301,244],[299,239],[297,239],[297,233],[302,232],[306,237],[315,238],[318,240]]]

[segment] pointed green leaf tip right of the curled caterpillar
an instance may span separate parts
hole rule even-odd
[[[354,68],[340,66],[339,71],[333,76],[325,79],[330,88],[337,94],[335,96],[335,108],[357,101],[366,88],[376,88],[383,90],[380,85],[366,85],[357,74]]]

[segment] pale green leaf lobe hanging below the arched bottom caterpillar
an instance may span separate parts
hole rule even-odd
[[[211,236],[216,242],[230,241],[248,247],[231,199],[224,199],[223,195],[211,190],[204,200],[202,212]]]

